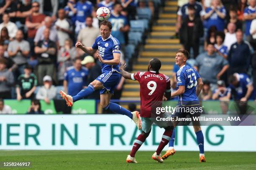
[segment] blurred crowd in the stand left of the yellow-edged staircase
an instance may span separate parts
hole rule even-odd
[[[90,47],[100,35],[97,9],[110,9],[112,35],[120,41],[121,60],[127,62],[129,21],[137,18],[137,8],[148,10],[153,17],[156,2],[159,3],[158,0],[138,3],[136,0],[0,0],[0,98],[36,98],[49,103],[57,97],[58,87],[77,94],[101,74],[97,52],[89,56],[74,47],[77,41]],[[114,98],[120,98],[123,83],[124,79]],[[99,92],[88,98],[100,99]]]

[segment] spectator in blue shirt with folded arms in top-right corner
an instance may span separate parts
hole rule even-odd
[[[244,9],[243,19],[246,20],[246,39],[249,40],[251,21],[256,19],[256,0],[249,1],[249,6]]]

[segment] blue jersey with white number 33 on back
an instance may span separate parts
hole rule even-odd
[[[179,95],[179,102],[198,101],[196,94],[197,80],[200,78],[197,70],[188,65],[180,67],[176,74],[177,86],[185,86],[185,92]]]

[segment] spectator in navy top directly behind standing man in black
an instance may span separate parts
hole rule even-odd
[[[189,2],[187,4],[184,4],[182,7],[179,8],[179,11],[177,13],[177,22],[176,22],[176,26],[175,26],[176,34],[174,35],[174,37],[171,37],[171,38],[178,37],[178,33],[179,33],[179,29],[181,27],[182,20],[184,20],[184,18],[186,18],[186,16],[188,15],[187,7],[189,5],[195,5],[195,9],[196,9],[195,15],[197,17],[202,18],[202,16],[204,15],[203,10],[202,10],[202,4],[195,0],[189,0]]]

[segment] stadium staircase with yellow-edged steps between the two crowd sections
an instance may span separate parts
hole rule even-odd
[[[176,11],[177,0],[165,2],[158,20],[155,21],[152,31],[148,35],[146,45],[143,46],[137,61],[133,63],[133,73],[147,70],[148,61],[157,57],[162,62],[160,72],[171,77],[175,51],[181,48],[178,39],[170,38],[175,32]],[[139,89],[138,82],[126,80],[121,100],[140,100]],[[127,108],[127,105],[123,104],[123,107]]]

